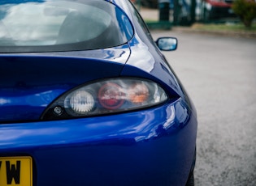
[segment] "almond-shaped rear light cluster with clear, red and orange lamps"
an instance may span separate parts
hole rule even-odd
[[[157,83],[144,79],[119,78],[78,87],[46,108],[42,120],[66,119],[148,108],[167,100]]]

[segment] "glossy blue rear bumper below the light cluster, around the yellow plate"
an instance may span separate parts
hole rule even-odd
[[[194,113],[178,99],[114,116],[0,125],[0,156],[31,156],[33,186],[184,185]]]

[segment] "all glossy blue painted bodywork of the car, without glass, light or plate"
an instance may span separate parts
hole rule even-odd
[[[127,15],[120,22],[132,23],[127,30],[134,36],[127,44],[87,51],[0,53],[0,156],[31,156],[33,186],[179,186],[193,171],[193,103],[130,2],[111,3]],[[54,99],[72,88],[123,77],[157,82],[169,99],[115,115],[40,119]]]

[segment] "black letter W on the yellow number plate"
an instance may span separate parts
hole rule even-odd
[[[7,184],[11,184],[12,179],[15,180],[15,184],[20,184],[20,161],[16,161],[15,164],[11,164],[10,161],[6,162],[7,165]]]

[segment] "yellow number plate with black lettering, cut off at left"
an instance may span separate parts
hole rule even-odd
[[[0,185],[33,186],[32,163],[29,156],[0,157]]]

